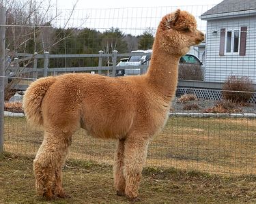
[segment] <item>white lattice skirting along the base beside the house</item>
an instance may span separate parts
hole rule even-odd
[[[199,99],[210,99],[214,101],[221,100],[223,90],[220,89],[209,89],[209,88],[193,88],[193,87],[178,87],[176,90],[176,96],[181,97],[185,94],[196,95]],[[243,94],[244,92],[240,92]],[[256,103],[256,92],[254,92],[253,97],[248,100],[248,103]]]

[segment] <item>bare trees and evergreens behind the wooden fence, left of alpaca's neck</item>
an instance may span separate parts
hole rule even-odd
[[[56,28],[53,22],[57,16],[47,18],[51,10],[51,1],[48,5],[43,1],[33,0],[3,0],[0,6],[7,8],[6,14],[6,48],[10,50],[11,58],[16,52],[42,54],[44,51],[51,54],[95,54],[99,50],[104,53],[119,53],[132,50],[152,49],[154,41],[153,31],[145,29],[141,35],[126,34],[118,28],[109,28],[97,31],[90,28]],[[72,11],[67,19],[72,17]],[[66,23],[68,24],[68,22]],[[82,26],[83,27],[83,26]],[[57,60],[50,61],[51,67],[81,67],[98,65],[97,59]],[[27,65],[29,66],[29,65]]]

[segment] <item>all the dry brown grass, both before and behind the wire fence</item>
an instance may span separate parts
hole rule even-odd
[[[138,203],[255,203],[256,177],[249,175],[256,174],[255,122],[171,118],[150,144]],[[4,134],[5,151],[12,154],[0,158],[0,203],[128,203],[113,188],[115,141],[78,131],[63,168],[72,197],[46,201],[35,194],[32,171],[42,131],[25,118],[6,117]]]

